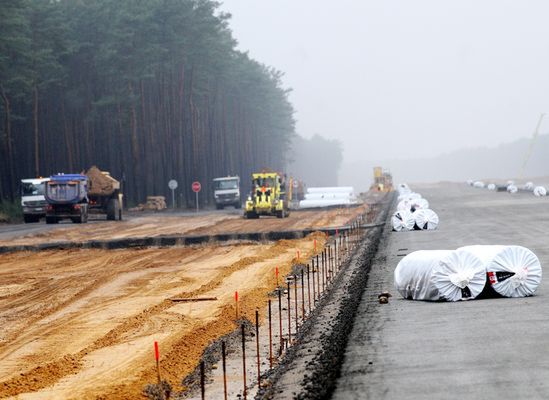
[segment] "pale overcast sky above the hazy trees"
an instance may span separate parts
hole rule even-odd
[[[549,111],[549,1],[222,1],[240,50],[285,72],[297,132],[347,162],[495,146]]]

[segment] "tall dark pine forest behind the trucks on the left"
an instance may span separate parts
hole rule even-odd
[[[236,50],[210,0],[0,0],[0,201],[21,178],[91,165],[132,202],[284,170],[281,73]]]

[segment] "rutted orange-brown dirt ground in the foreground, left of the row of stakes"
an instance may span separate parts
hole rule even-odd
[[[197,218],[183,225],[200,229],[200,224],[233,219]],[[339,218],[337,210],[311,213],[307,223],[339,223]],[[248,229],[239,222],[242,229]],[[289,226],[303,223],[292,217],[283,222]],[[182,224],[174,221],[171,228],[165,223],[158,228],[148,223],[150,232],[158,234]],[[113,227],[113,235],[133,235],[146,232],[147,224],[137,228],[133,221],[122,223],[125,230],[116,229],[121,225],[106,225]],[[67,228],[65,234],[83,236],[79,228]],[[91,234],[104,237],[108,229],[94,227]],[[315,237],[320,248],[324,236]],[[275,266],[281,274],[289,272],[297,250],[304,258],[312,255],[313,238],[271,244],[2,255],[0,397],[141,398],[145,384],[156,379],[155,340],[161,352],[162,377],[181,390],[181,379],[195,368],[203,349],[235,329],[235,291],[241,312],[252,319],[257,307],[265,308],[267,293],[275,287]],[[170,300],[200,297],[217,300]]]

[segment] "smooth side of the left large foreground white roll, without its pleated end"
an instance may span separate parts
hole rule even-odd
[[[405,299],[440,299],[433,280],[433,270],[440,268],[440,260],[452,253],[452,250],[420,250],[408,254],[395,269],[395,289]]]

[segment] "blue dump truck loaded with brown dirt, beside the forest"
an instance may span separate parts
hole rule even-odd
[[[85,223],[88,215],[106,214],[107,220],[122,220],[120,182],[106,171],[91,167],[83,174],[57,174],[46,184],[46,223],[62,219]]]

